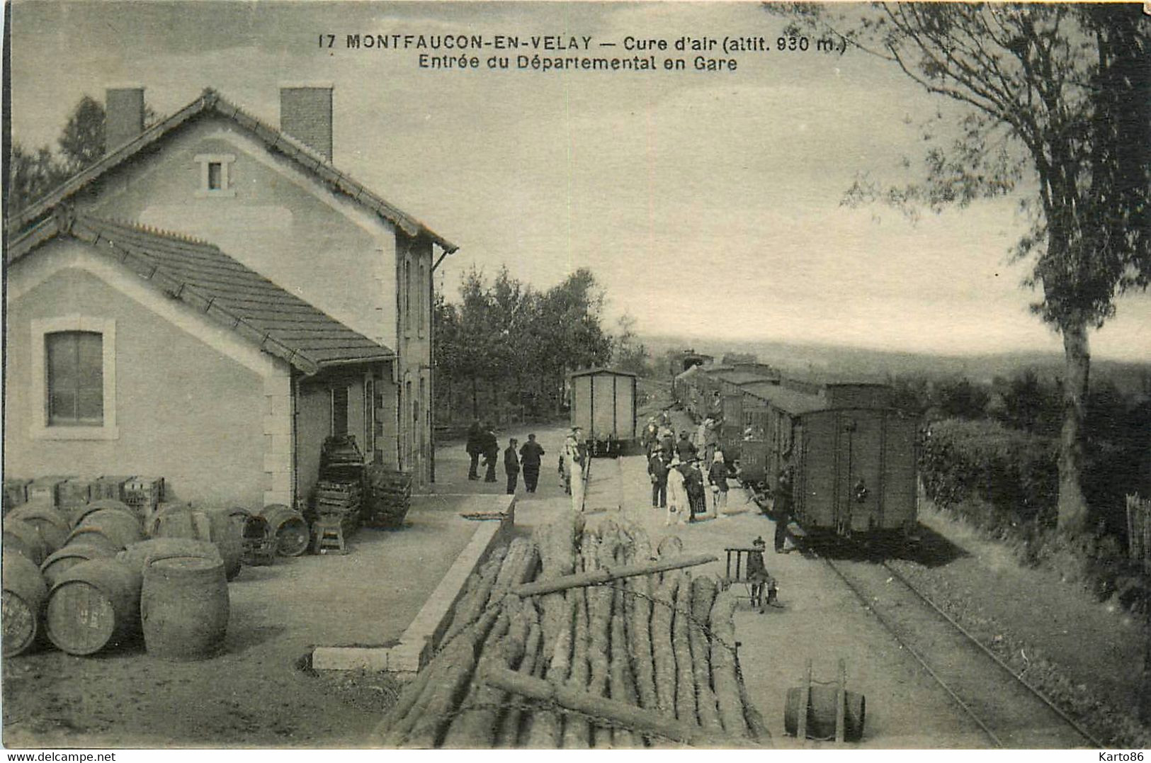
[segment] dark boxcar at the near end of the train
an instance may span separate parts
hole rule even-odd
[[[909,533],[915,527],[918,421],[891,388],[784,380],[767,392],[764,473],[794,470],[794,513],[809,532]]]

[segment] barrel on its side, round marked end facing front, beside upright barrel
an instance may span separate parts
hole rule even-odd
[[[139,635],[140,573],[116,559],[82,562],[48,592],[48,639],[70,655],[92,655]]]

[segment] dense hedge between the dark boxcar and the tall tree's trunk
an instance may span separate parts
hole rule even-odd
[[[990,420],[936,421],[922,436],[920,475],[936,505],[978,525],[1055,524],[1059,472],[1053,438]],[[991,511],[981,511],[980,504]]]

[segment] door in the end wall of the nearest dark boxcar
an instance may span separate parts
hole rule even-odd
[[[837,529],[868,532],[883,527],[882,411],[841,411],[837,420]]]

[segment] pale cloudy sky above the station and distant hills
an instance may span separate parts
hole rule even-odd
[[[211,86],[275,124],[281,84],[333,84],[335,165],[460,246],[439,273],[449,298],[472,267],[547,289],[586,266],[607,321],[626,313],[641,335],[1061,351],[1028,312],[1027,265],[1008,260],[1017,198],[917,221],[840,204],[859,173],[900,178],[922,155],[920,123],[952,107],[855,51],[775,49],[785,22],[757,3],[17,0],[12,23],[25,145],[54,143],[109,85],[144,85],[160,114]],[[479,70],[421,69],[421,51],[349,49],[352,33],[523,45],[470,51]],[[628,37],[669,49],[651,52],[656,71],[519,69],[532,36],[590,37],[579,55],[630,59]],[[737,69],[696,71],[673,47],[685,36],[772,49],[712,51]],[[497,54],[509,69],[488,69]],[[662,70],[666,58],[686,69]],[[1151,359],[1151,298],[1120,300],[1091,342],[1097,358]]]

